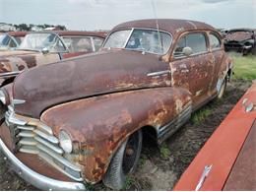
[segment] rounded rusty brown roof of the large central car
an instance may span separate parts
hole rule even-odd
[[[178,20],[178,19],[149,19],[149,20],[136,20],[126,22],[116,26],[112,31],[119,31],[129,28],[144,28],[144,29],[155,29],[159,26],[160,31],[169,32],[172,35],[177,35],[184,31],[193,30],[211,30],[216,31],[212,26],[191,20]]]

